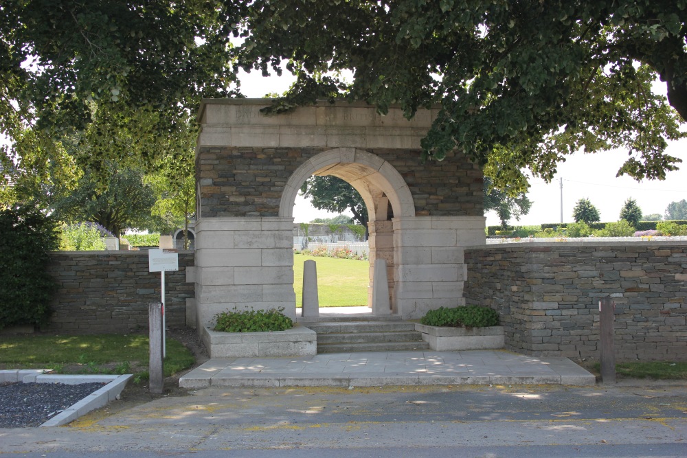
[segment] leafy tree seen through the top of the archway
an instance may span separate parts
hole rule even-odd
[[[360,194],[346,181],[331,175],[313,175],[303,183],[301,192],[311,198],[313,207],[333,213],[350,210],[355,222],[368,227],[368,208]]]

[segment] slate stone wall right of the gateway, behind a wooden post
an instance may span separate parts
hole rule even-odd
[[[557,242],[465,250],[466,304],[497,310],[510,350],[598,358],[600,297],[618,360],[687,360],[685,242]]]

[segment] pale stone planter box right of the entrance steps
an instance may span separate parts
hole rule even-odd
[[[505,347],[504,327],[449,328],[415,324],[415,330],[423,333],[423,341],[432,350],[449,352],[456,350],[496,350]]]

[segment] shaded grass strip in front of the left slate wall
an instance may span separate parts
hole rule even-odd
[[[178,341],[167,339],[165,376],[190,367],[193,354]],[[0,369],[53,369],[56,374],[135,374],[148,378],[148,336],[93,334],[60,336],[30,334],[3,336]]]

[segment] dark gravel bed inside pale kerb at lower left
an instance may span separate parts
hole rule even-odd
[[[0,428],[40,426],[105,385],[102,382],[0,385]]]

